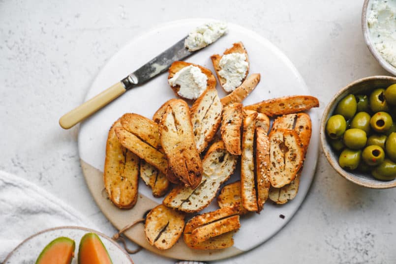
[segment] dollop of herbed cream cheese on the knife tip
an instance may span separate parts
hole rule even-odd
[[[206,23],[188,33],[184,40],[184,47],[188,51],[197,51],[205,48],[227,32],[227,24],[223,22]]]

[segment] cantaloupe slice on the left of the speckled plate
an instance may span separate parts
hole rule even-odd
[[[52,240],[36,260],[36,264],[70,264],[74,257],[76,243],[68,237]]]

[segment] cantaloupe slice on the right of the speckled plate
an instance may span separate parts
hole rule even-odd
[[[81,238],[78,264],[113,264],[102,240],[95,233],[85,234]]]

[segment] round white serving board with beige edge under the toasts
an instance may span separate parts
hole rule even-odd
[[[148,30],[135,37],[111,58],[99,72],[86,100],[121,80],[131,71],[160,54],[182,39],[188,31],[207,22],[207,19],[179,20]],[[294,94],[309,94],[309,90],[297,69],[287,57],[267,39],[241,26],[229,24],[229,32],[212,45],[186,59],[213,71],[210,56],[222,54],[233,43],[242,41],[247,50],[250,62],[250,73],[260,73],[261,81],[255,90],[244,100],[252,104],[264,99]],[[214,73],[214,71],[213,71]],[[81,124],[78,145],[81,165],[87,185],[93,199],[103,214],[117,228],[144,216],[145,212],[162,202],[163,198],[154,198],[150,188],[142,180],[139,182],[139,199],[129,210],[119,209],[107,199],[103,186],[103,166],[107,133],[115,120],[124,113],[138,113],[152,118],[155,111],[175,94],[167,83],[167,74],[161,74],[143,86],[133,88],[122,97],[87,119]],[[225,95],[217,85],[219,96]],[[285,204],[274,205],[267,202],[260,214],[249,213],[241,217],[241,229],[234,235],[234,246],[222,250],[192,250],[183,238],[168,250],[158,250],[151,246],[144,235],[143,224],[128,230],[125,235],[144,248],[169,258],[180,260],[217,260],[241,254],[250,250],[276,234],[298,210],[312,182],[318,156],[319,124],[316,110],[310,110],[312,119],[312,138],[308,147],[304,170],[297,197]],[[240,178],[239,167],[227,181],[234,182]],[[215,199],[203,212],[218,208]],[[280,217],[282,215],[282,217]],[[284,217],[283,217],[284,216]]]

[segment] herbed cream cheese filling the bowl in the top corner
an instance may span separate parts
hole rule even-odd
[[[396,67],[396,0],[374,0],[367,19],[377,51]]]

